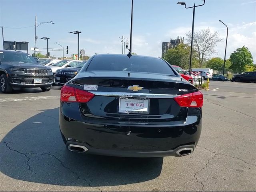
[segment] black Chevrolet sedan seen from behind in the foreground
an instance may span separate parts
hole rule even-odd
[[[60,130],[73,152],[184,156],[200,138],[203,95],[161,58],[92,56],[60,100]]]

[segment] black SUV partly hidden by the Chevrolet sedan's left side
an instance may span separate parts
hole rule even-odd
[[[81,68],[86,64],[86,61],[80,62],[74,67],[68,67],[68,68],[62,68],[58,69],[55,72],[54,75],[54,82],[56,84],[64,85],[66,82],[74,78],[78,72],[81,70]]]

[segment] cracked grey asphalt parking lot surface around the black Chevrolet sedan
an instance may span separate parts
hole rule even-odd
[[[66,150],[60,86],[0,94],[1,191],[255,191],[256,84],[210,82],[198,146],[180,158]]]

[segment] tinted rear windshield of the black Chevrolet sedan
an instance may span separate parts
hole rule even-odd
[[[140,56],[95,56],[87,71],[127,71],[175,75],[164,60]]]

